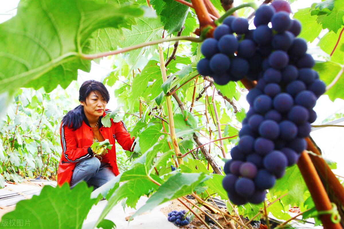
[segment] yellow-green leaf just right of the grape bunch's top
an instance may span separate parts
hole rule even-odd
[[[317,17],[311,15],[311,8],[299,9],[298,12],[294,14],[294,19],[300,21],[302,25],[302,30],[299,37],[304,38],[306,41],[313,42],[316,37],[319,36],[322,28],[316,22]]]

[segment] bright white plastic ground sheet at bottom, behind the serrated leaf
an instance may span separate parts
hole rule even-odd
[[[137,205],[136,209],[139,209],[143,206],[147,197],[142,196]],[[88,212],[87,218],[85,219],[82,229],[91,229],[96,223],[101,212],[105,208],[107,200],[99,201],[97,205],[94,205],[91,210]],[[116,224],[117,228],[120,229],[175,229],[178,228],[174,226],[173,223],[167,221],[167,217],[159,210],[160,208],[166,207],[170,202],[166,202],[162,205],[155,207],[152,211],[148,211],[135,217],[132,221],[128,222],[125,220],[127,216],[132,215],[136,209],[126,207],[123,210],[121,203],[114,206],[105,219],[111,220]]]

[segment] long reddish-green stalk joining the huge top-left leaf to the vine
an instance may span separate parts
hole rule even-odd
[[[111,55],[116,55],[116,54],[120,54],[120,53],[125,53],[137,48],[142,48],[142,47],[146,47],[146,46],[150,46],[150,45],[155,45],[155,44],[160,44],[163,42],[168,42],[168,41],[180,41],[180,40],[184,40],[184,41],[192,41],[192,42],[202,42],[203,39],[201,37],[192,37],[192,36],[177,36],[177,37],[170,37],[167,39],[160,39],[160,40],[156,40],[156,41],[150,41],[150,42],[145,42],[142,44],[138,44],[138,45],[133,45],[130,47],[126,47],[126,48],[122,48],[120,50],[114,50],[114,51],[109,51],[109,52],[103,52],[103,53],[96,53],[96,54],[79,54],[79,56],[82,59],[96,59],[96,58],[100,58],[100,57],[105,57],[105,56],[111,56]]]

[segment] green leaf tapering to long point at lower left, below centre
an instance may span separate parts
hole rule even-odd
[[[190,194],[198,184],[209,178],[211,176],[204,173],[176,173],[170,176],[131,218],[151,210],[166,201]]]

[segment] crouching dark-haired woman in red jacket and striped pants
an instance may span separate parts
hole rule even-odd
[[[123,123],[111,119],[104,127],[101,118],[110,115],[105,109],[110,99],[106,87],[95,80],[85,81],[79,89],[80,105],[69,111],[60,126],[62,155],[57,170],[57,184],[67,182],[71,188],[86,181],[94,190],[119,174],[116,163],[115,139],[124,150],[132,152],[134,138]],[[93,142],[109,139],[112,149],[95,157]],[[98,156],[98,155],[96,155]]]

